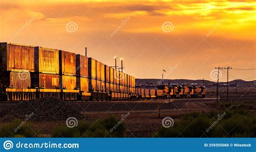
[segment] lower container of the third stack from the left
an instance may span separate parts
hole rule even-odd
[[[59,76],[59,87],[66,88],[68,90],[76,89],[76,76]]]

